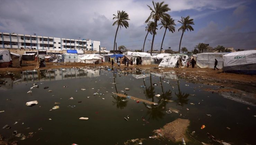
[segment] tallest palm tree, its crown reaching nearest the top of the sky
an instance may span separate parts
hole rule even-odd
[[[151,10],[150,16],[147,18],[145,23],[147,23],[150,19],[153,19],[155,21],[155,28],[153,32],[153,38],[152,38],[152,43],[151,43],[151,51],[150,55],[152,55],[152,50],[153,50],[153,44],[154,44],[154,39],[155,39],[155,34],[156,34],[156,27],[157,27],[157,21],[162,20],[162,19],[170,19],[171,16],[165,12],[170,11],[171,9],[168,8],[168,4],[164,4],[164,1],[161,3],[152,1],[153,3],[153,8],[150,6],[149,9]]]

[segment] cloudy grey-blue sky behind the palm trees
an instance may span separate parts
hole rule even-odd
[[[161,2],[161,1],[155,1]],[[101,41],[101,47],[113,49],[117,26],[113,14],[129,14],[129,27],[118,30],[117,46],[141,49],[146,36],[145,20],[150,14],[148,0],[0,0],[0,32]],[[184,33],[181,47],[194,49],[198,43],[254,49],[256,48],[255,0],[166,0],[175,20],[176,31],[167,30],[163,48],[179,49],[181,16],[194,19],[194,31]],[[154,49],[161,47],[164,29],[157,30]],[[148,35],[145,50],[151,45]]]

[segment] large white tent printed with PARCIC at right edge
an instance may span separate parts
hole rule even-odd
[[[224,72],[256,75],[256,50],[232,52],[223,61]]]

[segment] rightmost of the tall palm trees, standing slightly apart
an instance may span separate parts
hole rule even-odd
[[[190,17],[181,17],[181,21],[178,21],[180,22],[182,25],[181,25],[181,28],[178,29],[178,31],[182,30],[182,35],[181,35],[181,40],[182,40],[182,37],[183,37],[183,33],[187,30],[187,31],[194,31],[194,28],[191,26],[191,25],[195,25],[193,20],[194,19],[189,19]],[[180,50],[181,50],[181,41],[180,41],[180,46],[179,46],[179,53],[180,53]]]

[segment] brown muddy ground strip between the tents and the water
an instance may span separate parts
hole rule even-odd
[[[101,64],[84,64],[84,63],[54,63],[46,62],[46,67],[40,69],[55,69],[55,68],[72,68],[72,67],[101,67],[101,66],[111,66],[110,63],[103,62]],[[118,67],[117,64],[114,64],[115,67]],[[167,72],[175,72],[175,74],[186,79],[187,82],[192,83],[202,83],[209,85],[209,88],[205,89],[206,91],[214,92],[236,92],[241,93],[240,90],[246,91],[248,93],[254,94],[256,98],[256,75],[241,75],[241,74],[230,74],[224,73],[221,69],[213,70],[209,68],[199,68],[195,66],[180,67],[180,68],[158,68],[158,65],[133,65],[127,67],[125,65],[120,65],[120,68],[124,71],[133,71],[133,69],[142,69],[150,72],[157,72],[165,74]],[[36,68],[36,61],[23,61],[21,68],[0,68],[0,75],[4,75],[7,72],[19,72],[24,70],[33,70]],[[128,69],[127,69],[128,68]],[[211,89],[211,85],[219,86],[218,89]]]

